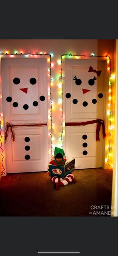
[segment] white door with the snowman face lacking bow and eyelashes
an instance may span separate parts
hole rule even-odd
[[[7,173],[46,171],[48,165],[47,60],[3,58],[4,126],[27,124],[9,131],[5,144]],[[46,123],[46,126],[35,124]],[[34,126],[30,126],[33,124]]]

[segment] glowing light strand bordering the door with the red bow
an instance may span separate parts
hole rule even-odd
[[[112,165],[109,163],[109,157],[111,155],[111,120],[112,120],[112,77],[111,77],[111,58],[108,55],[95,55],[95,54],[91,54],[91,55],[86,55],[86,54],[82,54],[82,55],[78,55],[78,54],[62,54],[61,55],[61,83],[62,83],[62,127],[61,127],[61,140],[62,140],[62,147],[63,147],[63,79],[62,79],[62,72],[63,72],[63,66],[62,66],[62,61],[63,61],[63,57],[64,56],[68,56],[68,57],[103,57],[103,58],[109,58],[109,72],[110,72],[110,78],[109,78],[109,89],[110,89],[110,104],[108,104],[110,106],[110,128],[109,128],[109,146],[108,146],[108,153],[107,153],[107,164],[112,167]]]

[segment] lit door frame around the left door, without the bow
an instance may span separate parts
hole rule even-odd
[[[3,117],[3,102],[2,102],[2,59],[6,58],[15,58],[15,59],[46,59],[47,60],[47,143],[48,143],[48,162],[51,158],[51,130],[52,130],[52,112],[51,112],[51,54],[38,54],[38,53],[4,53],[0,56],[1,65],[0,65],[0,77],[1,77],[1,86],[0,86],[0,134],[1,134],[1,154],[0,157],[0,174],[5,176],[6,172],[6,160],[5,160],[5,123]],[[10,136],[10,134],[9,134]],[[48,166],[47,166],[48,167]],[[47,170],[46,170],[47,171]]]

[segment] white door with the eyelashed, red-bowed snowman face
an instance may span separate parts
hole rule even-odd
[[[65,60],[65,123],[104,120],[105,72],[103,60]],[[103,166],[104,139],[101,128],[100,141],[96,141],[96,127],[96,123],[65,127],[66,156],[76,158],[76,169]]]

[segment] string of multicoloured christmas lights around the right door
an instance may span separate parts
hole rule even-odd
[[[76,58],[79,59],[81,57],[103,57],[103,58],[107,58],[108,61],[107,63],[109,64],[108,67],[108,71],[109,71],[109,103],[108,103],[108,107],[109,107],[109,111],[108,111],[108,115],[110,115],[110,125],[109,125],[109,132],[108,132],[108,137],[109,137],[109,145],[108,145],[108,152],[107,152],[107,158],[106,158],[106,162],[110,167],[113,167],[112,164],[110,164],[110,157],[111,157],[111,130],[113,129],[112,126],[112,75],[111,75],[111,58],[108,55],[95,55],[94,53],[91,53],[91,55],[87,55],[87,54],[82,54],[82,55],[78,55],[78,54],[62,54],[61,55],[61,85],[62,85],[62,126],[61,126],[61,140],[62,140],[62,147],[63,147],[63,59],[64,57],[67,58]]]

